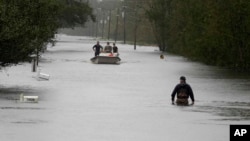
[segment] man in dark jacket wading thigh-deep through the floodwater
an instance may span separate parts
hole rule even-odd
[[[177,100],[176,104],[177,105],[183,105],[187,106],[188,103],[188,98],[190,97],[192,100],[191,105],[194,104],[194,94],[191,86],[186,83],[186,77],[181,76],[180,77],[180,83],[177,84],[172,92],[172,104],[175,104],[175,95],[177,94]]]

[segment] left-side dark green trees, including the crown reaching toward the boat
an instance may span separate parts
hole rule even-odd
[[[74,0],[0,0],[0,68],[27,61],[52,41],[59,27],[84,24],[88,3]]]

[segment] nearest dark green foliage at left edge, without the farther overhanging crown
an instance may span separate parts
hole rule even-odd
[[[0,5],[0,66],[27,60],[58,27],[53,0],[1,0]]]

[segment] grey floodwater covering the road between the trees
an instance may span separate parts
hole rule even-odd
[[[120,65],[92,64],[94,43],[60,35],[39,64],[49,81],[28,63],[0,73],[1,141],[225,141],[230,124],[249,123],[249,75],[122,44]],[[181,75],[194,106],[171,105]],[[39,102],[22,103],[21,93]]]

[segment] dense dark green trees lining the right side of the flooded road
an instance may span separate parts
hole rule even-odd
[[[161,50],[250,70],[248,0],[152,0],[146,15]]]

